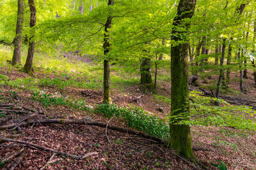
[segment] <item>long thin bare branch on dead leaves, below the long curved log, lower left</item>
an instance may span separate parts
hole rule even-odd
[[[26,141],[19,141],[19,140],[16,140],[16,139],[0,138],[0,141],[10,141],[10,142],[14,142],[14,143],[21,143],[21,144],[24,144],[24,145],[32,146],[33,148],[38,148],[40,150],[55,152],[55,153],[58,153],[60,155],[66,156],[66,157],[72,157],[72,158],[77,159],[77,160],[81,160],[81,159],[84,159],[86,157],[90,157],[92,155],[97,155],[98,154],[98,152],[90,152],[90,153],[86,153],[86,154],[81,155],[81,156],[76,156],[76,155],[72,155],[70,153],[61,152],[61,151],[54,150],[54,149],[51,149],[51,148],[47,148],[47,147],[44,147],[44,146],[36,145],[34,143],[28,143]]]

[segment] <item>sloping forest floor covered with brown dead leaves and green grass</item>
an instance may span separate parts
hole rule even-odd
[[[97,107],[97,104],[102,103],[102,85],[100,85],[102,80],[97,79],[99,74],[93,76],[93,74],[98,73],[93,71],[102,71],[102,69],[98,65],[93,66],[92,60],[79,61],[79,57],[78,59],[66,57],[68,59],[65,59],[65,62],[59,63],[58,59],[51,59],[51,61],[54,60],[55,66],[72,62],[72,66],[68,65],[71,71],[64,72],[58,69],[58,67],[51,67],[49,65],[48,68],[45,68],[36,63],[35,74],[30,76],[20,71],[20,67],[10,66],[6,59],[11,59],[11,50],[6,47],[1,49],[0,76],[2,76],[0,80],[1,78],[4,79],[4,75],[8,77],[9,83],[0,85],[0,106],[1,104],[13,104],[8,109],[24,111],[24,113],[19,114],[8,113],[10,120],[6,122],[7,125],[20,122],[20,118],[26,117],[28,110],[24,108],[33,108],[39,113],[36,117],[32,118],[34,120],[38,118],[83,119],[86,117],[93,121],[109,122],[109,125],[131,129],[120,118],[109,120],[109,118],[103,117],[102,114],[95,113],[92,110],[84,111],[65,104],[54,104],[54,101],[47,101],[50,103],[45,103],[44,101],[42,103],[42,101],[33,98],[35,90],[40,90],[45,94],[51,94],[53,97],[61,96],[72,101],[83,100],[90,108]],[[40,60],[40,57],[36,59]],[[88,67],[90,69],[86,72],[86,75],[88,74],[87,78],[83,77],[85,73],[78,76],[86,81],[82,82],[83,80],[78,79],[71,81],[72,76],[79,72],[74,68],[84,66],[81,65],[81,62],[89,64]],[[160,118],[165,118],[170,113],[170,104],[157,100],[157,96],[170,97],[171,87],[166,71],[163,70],[163,73],[160,73],[162,76],[159,77],[159,85],[157,85],[156,92],[142,93],[136,75],[124,76],[122,72],[119,73],[115,69],[117,70],[116,67],[113,67],[112,75],[114,78],[112,79],[113,89],[111,90],[113,104],[120,107],[140,107]],[[249,72],[248,75],[249,78],[244,80],[244,86],[247,90],[245,95],[237,92],[239,90],[239,82],[236,80],[237,73],[235,71],[232,72],[231,77],[234,81],[229,85],[230,90],[222,91],[221,94],[223,96],[256,101],[256,89],[253,87],[252,73]],[[127,77],[135,78],[128,81]],[[59,79],[61,81],[57,81]],[[212,76],[207,81],[199,80],[199,84],[208,90],[207,85],[212,84],[211,82],[216,81],[216,79],[217,76]],[[49,80],[56,81],[49,82]],[[67,82],[67,84],[61,84],[63,81]],[[81,83],[77,84],[77,81],[81,81]],[[123,83],[124,81],[125,83]],[[99,87],[95,88],[97,86]],[[193,88],[198,90],[198,87]],[[87,96],[81,93],[84,91]],[[163,111],[158,111],[159,107],[162,107]],[[0,113],[1,118],[6,116],[3,113],[3,109],[3,107],[0,107],[2,111]],[[76,124],[45,125],[38,123],[20,126],[15,131],[0,129],[0,138],[18,139],[74,155],[97,152],[95,155],[85,159],[76,160],[71,157],[38,150],[28,145],[24,147],[19,143],[0,140],[0,161],[8,157],[8,155],[14,155],[20,148],[24,148],[25,156],[18,162],[19,164],[15,169],[40,169],[44,166],[44,169],[195,169],[195,165],[192,162],[182,159],[172,150],[164,148],[163,145],[135,135],[116,132],[111,129],[107,130],[110,142],[106,137],[106,128],[97,126]],[[200,146],[211,150],[194,151],[196,159],[208,169],[220,169],[220,166],[214,167],[213,164],[223,164],[228,169],[255,169],[256,135],[254,131],[235,129],[234,127],[192,125],[191,134],[193,146]],[[0,168],[10,168],[17,161],[17,157],[13,157],[7,162],[0,162]],[[49,159],[54,161],[47,164]],[[198,169],[201,168],[198,167]]]

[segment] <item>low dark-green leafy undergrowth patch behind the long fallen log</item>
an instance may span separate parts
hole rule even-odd
[[[144,131],[152,136],[167,139],[169,126],[164,120],[155,115],[149,115],[139,108],[118,108],[114,104],[99,104],[95,112],[103,114],[104,117],[123,118],[124,122],[134,129]]]

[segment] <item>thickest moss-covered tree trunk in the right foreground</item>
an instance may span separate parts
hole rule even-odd
[[[184,41],[180,35],[179,27],[183,19],[191,18],[195,11],[196,0],[180,0],[177,15],[173,20],[172,39],[176,42]],[[188,29],[190,24],[186,22]],[[189,125],[178,124],[182,117],[189,116],[189,71],[188,71],[188,43],[172,45],[171,49],[171,76],[172,96],[171,115],[178,116],[178,119],[170,120],[170,147],[187,159],[195,160],[192,152],[191,132]]]

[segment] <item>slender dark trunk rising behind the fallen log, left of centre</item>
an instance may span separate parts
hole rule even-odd
[[[108,1],[108,6],[113,6],[114,0]],[[109,68],[109,51],[111,44],[109,43],[109,32],[108,29],[111,28],[112,24],[112,16],[111,13],[109,14],[106,24],[105,24],[105,33],[104,33],[104,80],[103,80],[103,90],[104,90],[104,99],[103,103],[111,104],[111,98],[110,98],[110,89],[109,89],[109,76],[110,76],[110,68]]]

